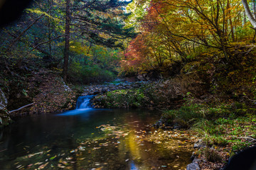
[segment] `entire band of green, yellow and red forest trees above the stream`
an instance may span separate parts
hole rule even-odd
[[[240,68],[239,48],[255,42],[255,11],[255,1],[240,0],[34,1],[1,28],[1,67],[58,69],[79,84],[171,76],[198,60]]]

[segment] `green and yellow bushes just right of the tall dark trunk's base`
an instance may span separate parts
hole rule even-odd
[[[74,60],[70,63],[68,80],[73,84],[112,81],[117,76],[119,51],[100,45],[71,42]]]

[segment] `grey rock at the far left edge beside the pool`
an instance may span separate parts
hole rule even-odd
[[[7,104],[7,98],[4,95],[4,92],[0,89],[0,126],[9,125],[11,122],[9,112],[6,109]]]

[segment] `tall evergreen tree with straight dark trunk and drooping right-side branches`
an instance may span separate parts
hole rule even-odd
[[[63,64],[64,81],[67,80],[68,75],[70,29],[80,34],[80,39],[106,47],[122,47],[123,45],[119,40],[134,37],[133,28],[124,29],[122,23],[122,18],[127,15],[124,13],[122,6],[129,4],[129,2],[83,0],[74,1],[72,6],[70,4],[70,0],[67,0]],[[70,11],[73,11],[72,16]]]

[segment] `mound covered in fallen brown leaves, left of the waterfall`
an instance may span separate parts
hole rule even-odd
[[[53,113],[75,106],[75,93],[58,72],[34,72],[29,89],[37,91],[33,97],[33,106],[28,111],[30,114]]]

